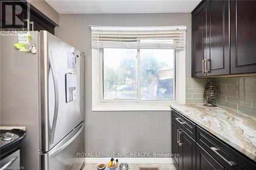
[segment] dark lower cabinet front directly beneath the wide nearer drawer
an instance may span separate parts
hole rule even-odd
[[[197,144],[197,170],[205,169],[220,170],[225,168]]]

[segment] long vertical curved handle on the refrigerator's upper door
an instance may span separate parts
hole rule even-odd
[[[52,128],[50,132],[50,144],[53,143],[54,141],[54,134],[55,134],[55,128],[56,128],[56,123],[57,123],[57,118],[58,118],[58,109],[59,109],[59,92],[58,92],[58,81],[55,77],[56,72],[54,69],[54,66],[52,64],[52,52],[49,52],[49,64],[51,67],[51,72],[52,72],[52,77],[53,77],[53,84],[54,84],[54,114],[53,114],[53,123],[52,123]]]

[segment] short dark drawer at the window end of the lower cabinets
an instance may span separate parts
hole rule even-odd
[[[196,140],[196,124],[172,109],[172,119],[183,129],[191,138]]]

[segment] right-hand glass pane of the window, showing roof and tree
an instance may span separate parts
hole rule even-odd
[[[140,100],[175,99],[172,49],[140,49]]]

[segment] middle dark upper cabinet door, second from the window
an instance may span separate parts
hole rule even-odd
[[[229,53],[229,1],[206,1],[207,36],[207,76],[230,74]]]

